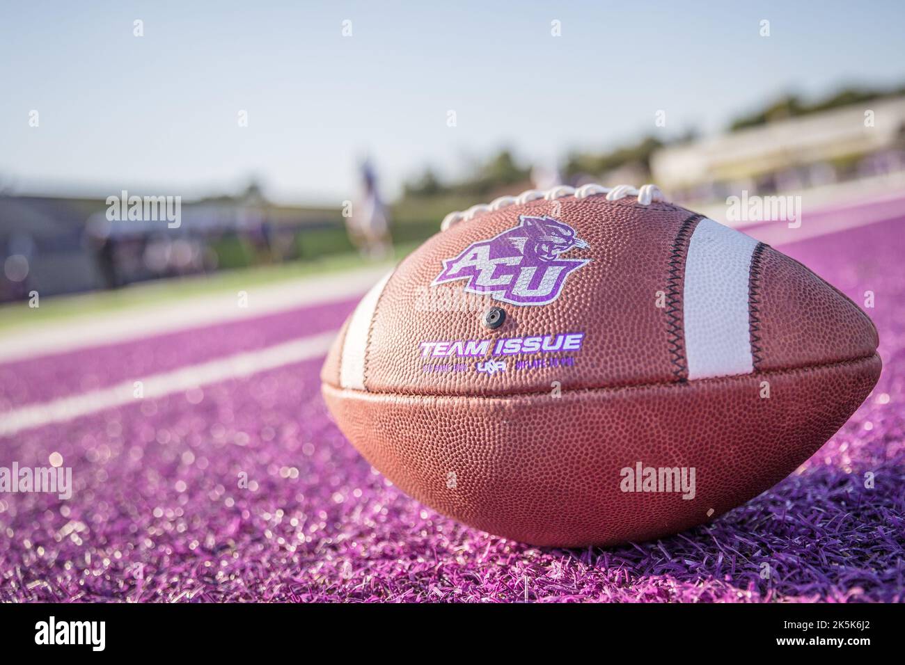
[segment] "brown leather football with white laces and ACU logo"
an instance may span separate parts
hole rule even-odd
[[[852,300],[654,185],[531,190],[441,229],[357,305],[322,392],[386,478],[491,534],[610,545],[715,519],[880,375]]]

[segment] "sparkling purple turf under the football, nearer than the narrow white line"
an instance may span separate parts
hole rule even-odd
[[[576,550],[462,527],[345,441],[316,360],[0,440],[0,465],[59,451],[76,485],[0,495],[0,601],[901,602],[901,238],[883,223],[783,248],[859,303],[875,291],[883,374],[801,469],[709,525]]]

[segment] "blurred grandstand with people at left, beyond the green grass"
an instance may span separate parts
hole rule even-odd
[[[339,208],[270,204],[254,185],[183,202],[178,228],[110,222],[107,208],[104,199],[0,195],[0,301],[351,251]]]

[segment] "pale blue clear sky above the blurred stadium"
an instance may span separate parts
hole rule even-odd
[[[392,198],[500,147],[549,164],[719,132],[788,91],[905,84],[903,24],[902,2],[3,0],[0,189],[192,197],[253,177],[340,204],[370,156]]]

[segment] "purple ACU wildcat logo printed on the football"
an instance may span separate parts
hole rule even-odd
[[[567,223],[523,214],[518,226],[473,242],[456,258],[443,260],[443,272],[433,286],[468,280],[469,293],[513,305],[547,305],[559,297],[568,274],[591,261],[561,259],[560,254],[586,247]]]

